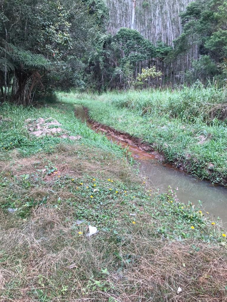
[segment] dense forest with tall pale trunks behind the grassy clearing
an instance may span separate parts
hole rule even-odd
[[[225,81],[227,2],[1,1],[1,99]]]

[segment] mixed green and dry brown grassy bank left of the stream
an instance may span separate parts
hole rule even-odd
[[[41,118],[82,138],[31,135],[28,119]],[[1,301],[227,299],[223,230],[176,190],[153,191],[123,149],[74,117],[71,98],[3,104],[0,144]],[[87,237],[89,225],[99,233]]]

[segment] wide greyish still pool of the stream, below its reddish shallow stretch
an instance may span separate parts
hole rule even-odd
[[[141,160],[140,170],[146,175],[151,184],[162,192],[167,191],[168,185],[178,188],[177,197],[180,201],[191,201],[198,204],[203,202],[204,209],[213,217],[227,221],[227,189],[212,186],[209,182],[193,178],[174,168],[165,167],[152,160]]]

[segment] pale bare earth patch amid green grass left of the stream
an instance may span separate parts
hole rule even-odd
[[[68,131],[61,128],[57,120],[49,118],[38,118],[37,120],[31,120],[28,118],[25,120],[26,127],[28,131],[36,137],[41,137],[45,135],[59,136],[61,138],[68,138],[69,140],[80,140],[82,137],[80,135],[69,135]]]

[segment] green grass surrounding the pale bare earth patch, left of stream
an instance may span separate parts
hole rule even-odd
[[[42,106],[23,107],[7,102],[0,106],[0,157],[8,158],[11,151],[17,150],[21,156],[30,156],[42,151],[50,152],[52,148],[59,143],[84,144],[90,147],[114,152],[117,156],[122,157],[124,151],[116,145],[111,145],[105,136],[95,133],[82,121],[76,119],[74,115],[73,104],[53,103],[46,100],[47,103]],[[37,120],[38,118],[56,119],[62,125],[61,128],[69,135],[81,135],[79,141],[55,136],[35,137],[29,133],[25,120]]]

